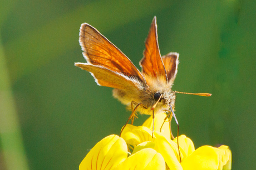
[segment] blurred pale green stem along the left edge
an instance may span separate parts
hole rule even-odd
[[[3,169],[27,170],[21,129],[14,104],[7,63],[4,58],[0,36],[0,146],[3,155]]]

